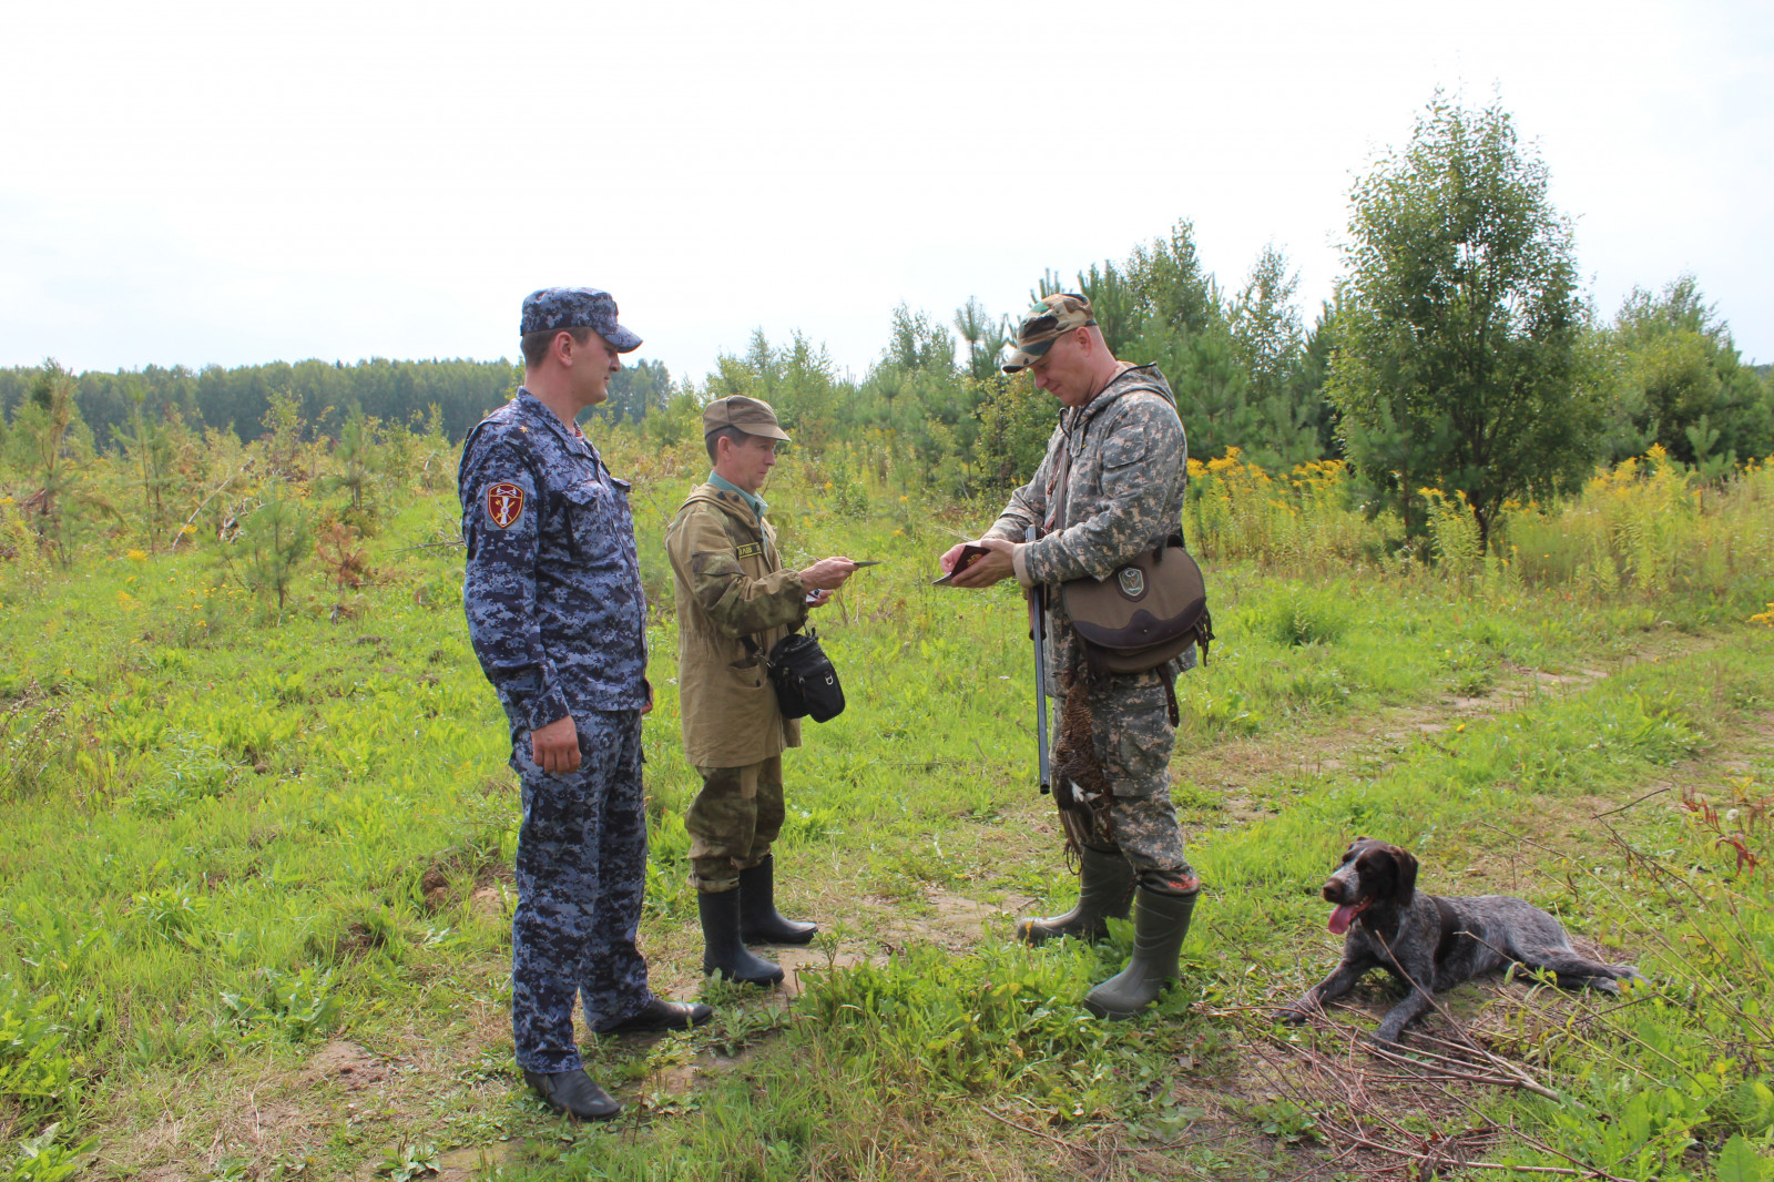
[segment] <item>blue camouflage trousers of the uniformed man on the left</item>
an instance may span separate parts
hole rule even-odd
[[[511,1033],[518,1067],[569,1072],[573,996],[593,1029],[649,1001],[635,946],[648,866],[640,795],[640,712],[587,712],[578,770],[553,776],[530,760],[527,726],[513,726],[511,767],[523,786],[518,909],[511,919]]]

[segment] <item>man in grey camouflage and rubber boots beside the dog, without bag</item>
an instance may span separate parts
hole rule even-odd
[[[1196,664],[1190,646],[1148,673],[1095,673],[1061,602],[1070,579],[1107,579],[1181,524],[1189,444],[1176,399],[1155,366],[1116,360],[1080,295],[1041,300],[1017,330],[1006,373],[1031,369],[1063,405],[1034,479],[1018,488],[974,545],[988,554],[954,575],[958,587],[1015,577],[1043,587],[1050,685],[1057,710],[1056,797],[1068,847],[1080,861],[1079,903],[1063,916],[1024,919],[1018,937],[1102,939],[1111,916],[1134,903],[1134,958],[1089,992],[1098,1017],[1132,1017],[1176,978],[1201,882],[1189,866],[1171,806],[1176,678]],[[1041,536],[1025,541],[1027,527]],[[965,543],[963,543],[965,545]],[[942,556],[953,570],[956,545]]]

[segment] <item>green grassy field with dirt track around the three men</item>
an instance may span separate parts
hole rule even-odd
[[[784,910],[823,934],[784,990],[701,980],[660,548],[699,470],[617,470],[660,690],[642,939],[655,989],[715,1022],[587,1036],[628,1104],[610,1127],[516,1079],[518,797],[440,545],[452,492],[390,497],[374,579],[303,580],[282,612],[208,548],[12,559],[0,1178],[1774,1178],[1767,472],[1698,497],[1655,465],[1602,477],[1524,515],[1510,559],[1460,561],[1449,520],[1432,568],[1322,474],[1277,499],[1203,470],[1222,641],[1180,687],[1173,797],[1208,891],[1181,983],[1105,1024],[1075,1003],[1128,932],[1008,939],[1075,889],[1034,792],[1020,600],[928,586],[992,506],[859,500],[811,463],[770,490],[788,556],[887,559],[823,609],[850,708],[786,761]],[[1276,1026],[1338,957],[1316,889],[1355,834],[1652,983],[1465,985],[1409,1058],[1357,1040],[1378,978]]]

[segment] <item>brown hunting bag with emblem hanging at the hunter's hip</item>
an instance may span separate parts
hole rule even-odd
[[[1201,664],[1208,662],[1213,618],[1201,566],[1183,548],[1181,534],[1171,534],[1107,579],[1063,582],[1059,593],[1084,660],[1096,673],[1146,673],[1190,644],[1199,644]]]

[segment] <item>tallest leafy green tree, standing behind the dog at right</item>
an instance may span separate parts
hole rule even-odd
[[[1570,224],[1501,106],[1440,94],[1350,197],[1330,398],[1355,469],[1412,532],[1419,490],[1503,502],[1575,488],[1602,426]]]

